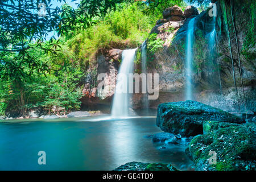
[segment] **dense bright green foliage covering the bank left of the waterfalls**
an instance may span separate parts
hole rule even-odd
[[[4,3],[1,2],[0,11],[4,9]],[[82,1],[80,8],[90,3]],[[81,15],[77,15],[79,10],[67,5],[61,7],[65,11],[61,15],[57,14],[61,9],[56,7],[54,11],[51,10],[59,18],[65,19],[62,28],[67,31],[63,29],[60,32],[59,26],[51,27],[46,21],[39,27],[41,30],[37,29],[36,24],[31,24],[31,29],[27,30],[29,22],[26,22],[24,25],[27,29],[23,28],[30,31],[29,34],[15,28],[5,31],[9,32],[8,36],[1,34],[1,43],[5,44],[0,45],[0,115],[10,112],[27,115],[33,108],[43,108],[44,113],[56,114],[79,109],[85,76],[88,68],[95,64],[97,53],[110,48],[137,47],[147,38],[160,16],[156,12],[145,14],[145,7],[141,3],[113,3],[115,6],[109,5],[108,10],[99,8],[88,11],[90,16],[84,15],[87,17],[84,22]],[[13,13],[21,14],[27,13],[23,8],[25,5],[25,1],[20,1],[18,9],[15,2],[10,6],[13,6]],[[33,8],[30,2],[28,6]],[[106,6],[102,4],[101,7]],[[110,11],[112,8],[114,11]],[[76,18],[71,20],[74,14]],[[6,17],[2,28],[7,27],[8,18],[14,18],[14,15]],[[56,17],[51,19],[57,20]],[[65,24],[69,26],[65,27]],[[47,32],[52,30],[59,32],[58,40],[46,39]],[[20,44],[19,40],[24,44]]]

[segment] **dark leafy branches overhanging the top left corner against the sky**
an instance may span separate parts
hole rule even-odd
[[[25,56],[32,48],[30,43],[36,41],[36,47],[56,53],[56,45],[44,45],[49,32],[56,31],[63,35],[72,30],[77,23],[82,27],[92,24],[94,16],[105,15],[115,10],[120,0],[92,1],[82,0],[79,8],[74,10],[70,6],[56,6],[52,8],[52,0],[2,0],[0,1],[0,51],[1,61],[5,63],[3,55],[15,52],[16,56]],[[64,2],[65,0],[57,0]],[[131,2],[126,0],[125,2]],[[43,7],[43,13],[42,13]],[[51,37],[50,43],[54,36]],[[27,57],[28,58],[28,57]],[[10,60],[9,60],[10,61]],[[31,64],[33,59],[27,60]]]

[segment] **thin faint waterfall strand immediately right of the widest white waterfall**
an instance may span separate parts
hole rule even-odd
[[[142,48],[141,48],[141,59],[142,59],[142,73],[147,74],[147,67],[146,67],[146,61],[147,61],[147,52],[146,52],[146,41],[143,42]],[[149,108],[149,100],[148,100],[148,94],[143,94],[143,105],[146,110],[146,115],[148,115],[148,108]]]

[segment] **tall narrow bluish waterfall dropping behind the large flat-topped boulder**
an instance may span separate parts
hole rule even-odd
[[[193,63],[193,37],[195,18],[188,23],[186,47],[186,100],[192,100],[192,63]]]

